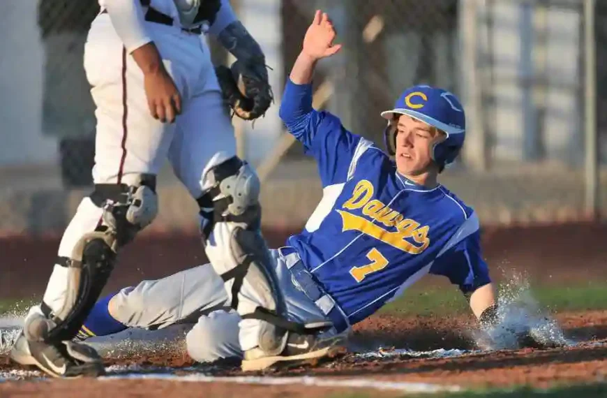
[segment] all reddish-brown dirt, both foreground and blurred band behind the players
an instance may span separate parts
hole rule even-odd
[[[276,247],[290,232],[269,230],[265,235],[271,246]],[[569,283],[607,281],[607,226],[604,225],[493,229],[484,231],[483,240],[486,258],[497,279],[510,272],[523,272],[532,283],[567,286]],[[57,243],[57,238],[52,237],[0,240],[3,256],[1,295],[25,297],[41,293],[50,274],[49,264]],[[202,262],[204,255],[195,235],[138,237],[123,252],[108,289],[162,277]],[[213,397],[241,397],[243,394],[248,398],[324,397],[344,391],[373,391],[373,388],[383,386],[387,390],[382,392],[382,397],[391,397],[433,388],[520,384],[546,387],[555,382],[603,381],[607,376],[607,361],[604,360],[607,356],[607,311],[556,314],[555,317],[567,337],[576,344],[565,348],[479,351],[470,334],[475,326],[470,316],[399,318],[381,315],[356,325],[350,353],[343,358],[316,368],[257,375],[271,378],[248,378],[237,383],[238,377],[243,376],[237,364],[202,367],[190,360],[183,348],[177,348],[171,353],[156,350],[107,358],[107,365],[114,370],[110,372],[110,378],[96,381],[6,381],[0,383],[0,396],[43,394],[59,397],[78,391],[82,396],[104,398],[112,394],[121,397],[194,397],[203,393]],[[403,351],[404,348],[418,354],[412,356],[410,351]],[[454,355],[444,352],[451,349],[459,351]],[[168,374],[167,367],[170,368]],[[18,375],[20,369],[9,364],[8,358],[0,358],[0,371]],[[151,379],[142,379],[142,374],[146,373]],[[215,379],[223,376],[228,376],[229,380]],[[36,377],[29,374],[25,378]],[[129,379],[133,377],[137,378]],[[288,384],[283,384],[285,381]],[[369,381],[373,383],[368,384]],[[339,382],[347,387],[338,385]]]

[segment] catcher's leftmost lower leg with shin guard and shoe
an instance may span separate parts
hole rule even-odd
[[[83,200],[62,239],[43,302],[31,309],[11,349],[15,362],[35,364],[57,377],[103,374],[96,351],[72,340],[110,277],[119,249],[156,216],[155,177],[140,175],[137,182],[96,184]],[[86,232],[81,219],[87,217],[79,213],[89,208],[100,209],[92,212],[100,218]]]

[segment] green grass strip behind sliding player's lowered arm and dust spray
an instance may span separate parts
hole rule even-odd
[[[607,309],[607,285],[588,283],[583,286],[541,286],[529,290],[542,309],[580,311]],[[381,312],[428,316],[431,314],[464,314],[469,311],[465,297],[457,288],[412,288]]]

